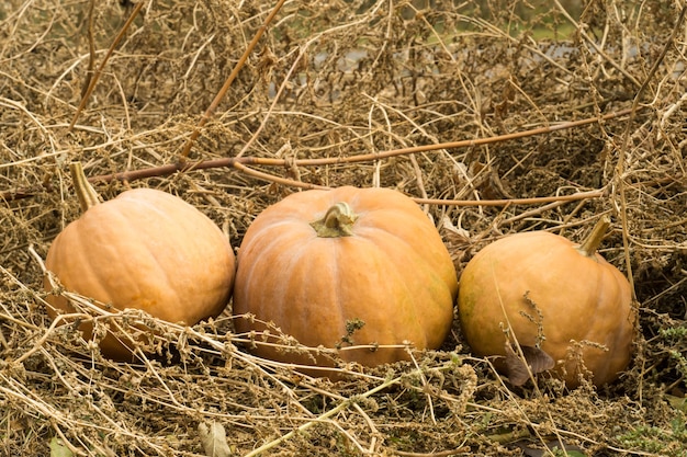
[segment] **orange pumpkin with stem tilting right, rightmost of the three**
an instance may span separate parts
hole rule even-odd
[[[581,374],[601,386],[628,366],[630,283],[596,252],[609,225],[604,218],[582,245],[547,231],[507,236],[465,266],[458,298],[464,338],[477,355],[498,356],[496,367],[514,385],[529,379],[525,364],[570,388]]]

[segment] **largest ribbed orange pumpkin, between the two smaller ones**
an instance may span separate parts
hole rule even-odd
[[[302,345],[375,366],[407,359],[404,344],[440,346],[457,294],[451,258],[412,198],[345,186],[291,194],[254,220],[238,252],[233,306],[236,330],[255,332],[258,356],[333,366],[317,351],[280,350],[274,329],[260,336],[272,323]]]

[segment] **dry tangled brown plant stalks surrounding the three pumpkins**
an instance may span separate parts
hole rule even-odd
[[[541,455],[563,444],[685,456],[682,7],[561,3],[285,2],[183,158],[274,4],[147,2],[97,75],[135,3],[3,2],[2,453],[212,455],[204,444],[216,439],[228,443],[217,456]],[[470,142],[482,138],[493,139]],[[127,311],[101,318],[159,329],[158,355],[103,359],[71,325],[50,327],[43,306],[42,259],[78,217],[72,160],[105,198],[135,186],[181,196],[234,247],[299,186],[397,188],[433,218],[459,271],[505,233],[578,240],[610,213],[602,253],[634,283],[637,356],[598,391],[545,379],[513,390],[470,355],[457,323],[441,351],[344,366],[351,378],[333,384],[245,352],[228,312],[187,329]],[[123,172],[140,174],[112,179]]]

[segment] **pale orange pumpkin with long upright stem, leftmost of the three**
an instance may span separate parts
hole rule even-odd
[[[235,258],[222,230],[179,197],[135,188],[100,203],[80,163],[72,163],[82,215],[53,241],[46,270],[70,292],[93,298],[114,311],[140,309],[168,322],[193,325],[226,307]],[[45,288],[52,284],[46,276]],[[48,316],[74,312],[61,294],[48,294]],[[87,340],[93,325],[79,329]],[[136,345],[125,334],[108,333],[102,354],[133,359]]]

